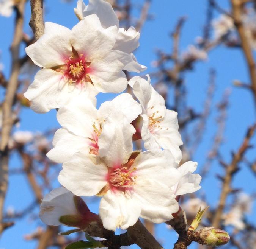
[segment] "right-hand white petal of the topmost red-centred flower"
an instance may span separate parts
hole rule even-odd
[[[90,64],[93,68],[90,78],[95,88],[104,93],[123,92],[128,82],[122,70],[130,61],[129,54],[118,50],[108,51],[108,54],[94,58]]]

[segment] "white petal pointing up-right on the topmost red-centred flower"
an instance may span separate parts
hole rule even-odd
[[[99,18],[93,14],[77,23],[71,33],[71,43],[75,51],[84,54],[91,62],[95,57],[104,57],[110,52],[115,45],[117,28],[102,28]]]

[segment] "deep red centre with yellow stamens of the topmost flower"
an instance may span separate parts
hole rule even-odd
[[[91,82],[91,62],[86,61],[86,57],[83,54],[71,56],[65,62],[66,70],[64,70],[64,76],[68,79],[69,84]]]

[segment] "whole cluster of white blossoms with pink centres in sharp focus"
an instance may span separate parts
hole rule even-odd
[[[141,72],[133,51],[140,34],[119,28],[110,3],[82,0],[74,9],[79,23],[72,30],[47,22],[45,34],[26,48],[42,67],[25,97],[36,112],[58,108],[62,128],[47,156],[63,163],[58,188],[46,195],[40,217],[49,225],[83,228],[97,216],[78,196],[99,196],[99,216],[108,230],[127,229],[139,217],[155,223],[173,218],[177,197],[200,188],[196,162],[182,159],[177,113],[148,80],[127,81],[123,70]],[[99,92],[129,93],[96,108]],[[133,150],[142,139],[145,151]]]

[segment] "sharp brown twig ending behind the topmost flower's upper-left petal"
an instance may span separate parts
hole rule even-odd
[[[29,26],[32,28],[35,39],[44,34],[43,0],[30,0],[31,18]]]

